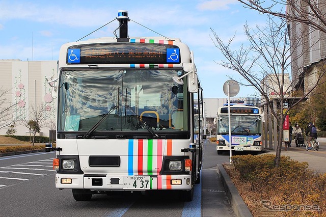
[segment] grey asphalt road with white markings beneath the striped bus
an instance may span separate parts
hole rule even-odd
[[[216,165],[228,161],[215,145],[204,145],[201,184],[194,201],[182,202],[172,192],[149,195],[119,192],[78,202],[70,189],[55,187],[55,152],[0,157],[0,216],[233,216]]]

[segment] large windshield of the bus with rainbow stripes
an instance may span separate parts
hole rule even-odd
[[[188,91],[177,70],[65,70],[60,73],[58,131],[189,130]],[[105,118],[103,118],[105,116]],[[102,120],[102,118],[104,120]],[[148,126],[145,127],[144,123]]]

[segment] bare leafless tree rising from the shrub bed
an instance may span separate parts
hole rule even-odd
[[[235,35],[224,42],[212,30],[213,37],[211,37],[215,46],[226,58],[218,64],[240,74],[242,78],[234,80],[241,85],[253,87],[256,90],[255,95],[262,98],[262,103],[268,107],[268,113],[273,116],[268,117],[268,121],[272,118],[276,120],[278,132],[276,167],[279,166],[281,159],[283,123],[286,115],[293,106],[304,101],[316,86],[315,84],[306,93],[292,91],[295,83],[289,73],[293,61],[291,46],[298,46],[298,44],[290,46],[287,27],[285,19],[272,16],[267,16],[267,25],[264,27],[256,26],[255,29],[251,29],[246,24],[244,33],[247,43],[241,44],[239,48],[233,48]],[[288,103],[287,108],[284,107],[285,102]]]

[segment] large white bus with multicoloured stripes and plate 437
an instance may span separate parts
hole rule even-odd
[[[202,88],[193,52],[180,39],[128,37],[64,44],[60,49],[57,146],[59,189],[77,201],[111,191],[178,191],[193,200],[200,183]],[[195,99],[199,102],[195,114]],[[198,112],[199,111],[199,112]]]

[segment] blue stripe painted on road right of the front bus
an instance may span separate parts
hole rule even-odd
[[[202,177],[202,171],[200,171]],[[201,201],[202,201],[202,184],[195,184],[194,186],[194,200],[191,202],[184,202],[182,217],[201,216]]]

